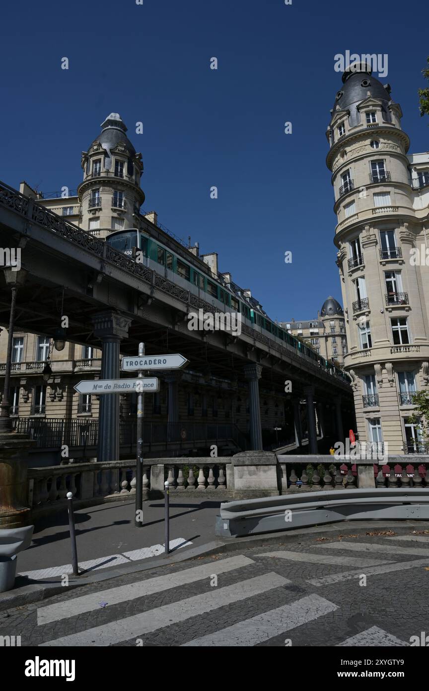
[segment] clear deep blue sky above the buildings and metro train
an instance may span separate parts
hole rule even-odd
[[[329,294],[341,301],[325,163],[337,53],[388,54],[381,81],[410,151],[429,150],[421,0],[9,0],[2,15],[1,180],[75,189],[81,151],[119,113],[143,154],[144,208],[218,252],[219,269],[272,319],[311,319]]]

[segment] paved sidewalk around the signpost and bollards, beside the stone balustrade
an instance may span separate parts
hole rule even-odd
[[[170,548],[198,547],[215,538],[220,502],[170,498]],[[143,503],[143,527],[134,527],[134,502],[100,504],[75,512],[79,565],[90,571],[163,553],[163,500]],[[67,511],[41,519],[31,546],[19,554],[17,572],[44,580],[71,571]],[[69,567],[63,569],[62,567]]]

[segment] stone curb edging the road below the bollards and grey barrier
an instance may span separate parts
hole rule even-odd
[[[126,574],[139,574],[143,571],[148,571],[154,567],[170,566],[180,564],[188,560],[199,558],[202,556],[210,556],[215,554],[224,554],[231,551],[246,549],[247,547],[262,547],[266,545],[267,540],[270,542],[282,542],[285,540],[288,543],[295,544],[300,542],[302,538],[317,535],[320,533],[346,533],[352,532],[354,534],[365,534],[368,529],[374,530],[394,529],[397,533],[406,533],[410,528],[427,529],[429,530],[429,521],[421,520],[407,520],[401,521],[398,525],[397,521],[341,521],[339,523],[332,523],[329,525],[315,526],[303,529],[295,529],[289,531],[277,531],[275,533],[266,533],[264,535],[246,536],[242,538],[223,538],[222,540],[213,540],[206,542],[200,547],[192,547],[180,553],[170,553],[169,556],[157,556],[150,559],[145,559],[141,562],[133,562],[131,564],[123,564],[114,569],[103,569],[103,572],[92,572],[90,575],[82,575],[79,577],[69,576],[68,589],[76,589],[84,585],[92,583],[102,583],[105,580],[124,576]],[[177,551],[177,549],[176,549]],[[28,579],[23,576],[17,576],[17,583],[23,582],[21,586],[18,585],[12,591],[0,593],[0,612],[6,612],[7,609],[13,607],[25,607],[32,603],[41,602],[47,598],[59,595],[64,591],[61,585],[61,578],[54,578],[52,580],[45,580],[43,583],[29,583],[26,585]]]

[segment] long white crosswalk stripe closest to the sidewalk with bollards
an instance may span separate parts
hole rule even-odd
[[[43,625],[66,617],[76,616],[83,612],[91,612],[94,609],[99,609],[100,603],[107,603],[106,606],[110,606],[128,602],[129,600],[159,593],[169,588],[180,587],[181,585],[186,585],[186,583],[195,583],[198,580],[210,578],[212,574],[226,574],[228,571],[240,569],[254,563],[252,559],[239,555],[222,559],[218,562],[203,564],[192,569],[177,571],[175,574],[166,574],[166,576],[148,578],[147,580],[137,581],[137,583],[100,590],[90,595],[64,600],[61,603],[46,605],[46,607],[39,607],[37,609],[37,623]]]

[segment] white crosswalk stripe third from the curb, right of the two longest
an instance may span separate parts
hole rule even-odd
[[[337,605],[330,603],[329,600],[318,595],[310,595],[290,605],[283,605],[283,607],[271,609],[270,612],[240,621],[213,634],[194,638],[193,641],[183,643],[182,647],[257,645],[313,621],[319,616],[335,612],[335,609],[338,609]]]

